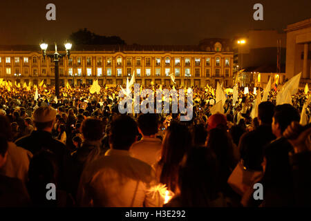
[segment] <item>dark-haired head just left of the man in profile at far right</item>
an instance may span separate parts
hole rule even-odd
[[[272,102],[261,102],[258,105],[258,122],[259,125],[268,125],[272,124],[272,117],[274,115],[274,104]]]

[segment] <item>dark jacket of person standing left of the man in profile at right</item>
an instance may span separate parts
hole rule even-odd
[[[275,138],[270,125],[261,125],[255,131],[244,133],[238,144],[243,165],[253,171],[262,171],[263,147]]]

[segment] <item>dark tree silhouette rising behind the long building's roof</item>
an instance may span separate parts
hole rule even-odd
[[[107,37],[107,36],[102,36],[102,35],[96,35],[95,33],[91,32],[87,28],[79,29],[77,32],[71,33],[69,39],[75,45],[79,45],[79,44],[89,44],[89,45],[126,44],[125,41],[118,36]]]

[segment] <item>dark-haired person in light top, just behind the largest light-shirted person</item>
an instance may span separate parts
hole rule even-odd
[[[159,128],[158,115],[153,113],[142,114],[138,117],[138,131],[142,140],[135,142],[130,153],[133,157],[153,165],[160,160],[162,141],[156,137]]]

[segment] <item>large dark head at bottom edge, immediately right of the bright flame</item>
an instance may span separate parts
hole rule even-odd
[[[223,206],[220,197],[218,163],[213,151],[204,147],[191,148],[180,163],[178,175],[180,204],[185,207]],[[173,201],[173,200],[172,200]]]

